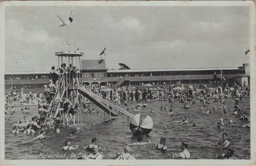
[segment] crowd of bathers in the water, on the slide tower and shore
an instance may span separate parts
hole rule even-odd
[[[19,122],[13,125],[12,133],[24,133],[27,135],[35,135],[32,140],[36,139],[46,139],[48,136],[45,135],[47,129],[52,128],[56,130],[56,133],[60,133],[60,124],[56,121],[56,116],[59,111],[62,111],[65,117],[66,126],[69,126],[70,120],[73,119],[73,124],[75,124],[76,118],[74,114],[76,113],[79,103],[83,104],[83,112],[84,113],[93,113],[94,109],[91,109],[92,103],[90,103],[86,98],[82,98],[81,100],[76,99],[74,96],[77,96],[76,92],[70,93],[68,98],[63,97],[61,100],[62,107],[61,109],[56,110],[54,117],[49,118],[49,114],[52,109],[52,105],[54,105],[54,96],[58,93],[58,90],[61,87],[59,84],[59,80],[61,75],[68,71],[68,77],[66,77],[65,82],[70,82],[70,87],[76,88],[79,86],[77,77],[76,77],[76,68],[73,66],[68,66],[66,68],[65,64],[61,64],[60,67],[54,68],[52,66],[51,73],[49,75],[50,81],[48,85],[44,86],[43,94],[39,92],[36,94],[24,94],[22,91],[17,93],[14,89],[12,93],[6,94],[6,109],[5,113],[8,114],[8,107],[12,108],[11,117],[15,114],[15,107],[13,107],[13,103],[36,103],[38,105],[38,116],[32,117],[31,121],[26,119],[25,114],[29,114],[29,107],[22,107],[20,111],[24,114],[24,117]],[[62,85],[63,86],[63,85]],[[234,83],[232,86],[225,84],[224,87],[208,87],[207,85],[200,85],[199,87],[186,85],[177,83],[176,85],[163,86],[163,87],[143,87],[139,89],[137,87],[113,87],[113,84],[107,84],[106,86],[99,86],[98,84],[91,85],[83,85],[86,89],[89,89],[95,94],[98,94],[100,97],[112,101],[116,105],[121,105],[124,102],[125,105],[128,105],[127,102],[138,102],[136,107],[134,108],[134,112],[140,112],[140,109],[147,107],[147,103],[152,100],[166,100],[170,104],[166,104],[159,107],[159,110],[166,110],[169,117],[176,116],[181,118],[180,121],[173,121],[172,123],[179,124],[187,124],[189,123],[186,117],[180,117],[180,114],[173,113],[173,101],[177,100],[180,103],[184,103],[183,109],[189,109],[189,103],[196,104],[202,103],[202,110],[204,107],[207,107],[210,103],[210,98],[214,99],[214,102],[220,102],[222,104],[222,112],[223,115],[227,114],[228,110],[225,106],[225,102],[228,98],[235,98],[235,106],[234,112],[232,115],[237,118],[239,121],[250,121],[250,115],[248,112],[241,110],[239,108],[239,103],[243,102],[243,98],[248,98],[250,96],[250,87],[249,86],[239,86]],[[67,85],[64,85],[65,88]],[[25,96],[25,97],[24,97]],[[35,101],[35,102],[34,102]],[[130,110],[127,109],[129,112]],[[150,110],[154,112],[153,109]],[[213,107],[212,110],[206,112],[207,114],[212,114],[216,111],[216,108]],[[97,113],[99,113],[97,111]],[[64,122],[63,122],[64,123]],[[228,125],[233,125],[232,120],[228,121]],[[193,123],[192,127],[195,127],[196,124]],[[218,128],[223,129],[225,127],[224,121],[221,118],[220,121],[217,122]],[[250,128],[250,124],[246,124],[243,127]],[[164,126],[164,131],[168,130],[168,125]],[[70,138],[66,139],[64,142],[64,146],[62,147],[63,151],[70,151],[77,149],[77,145],[72,146],[72,137],[74,134],[78,134],[80,131],[79,128],[76,128],[76,131],[70,133]],[[147,135],[146,135],[147,136]],[[125,145],[124,153],[118,156],[117,160],[129,160],[136,159],[131,155],[131,146],[143,146],[145,144],[152,144],[150,140],[147,142],[143,142],[142,137],[138,137],[138,142],[133,144]],[[216,156],[218,159],[232,159],[234,158],[234,149],[231,148],[231,143],[228,140],[228,134],[223,133],[222,140],[217,143],[221,149],[223,149],[223,154]],[[172,158],[182,158],[188,159],[191,157],[189,153],[189,144],[187,142],[182,142],[180,144],[180,152],[172,153]],[[79,159],[102,159],[102,154],[99,152],[100,147],[97,144],[97,139],[93,138],[92,143],[88,146],[83,147],[86,151],[90,152],[90,155],[83,156]],[[166,139],[164,137],[160,138],[159,144],[156,144],[156,149],[159,151],[171,151],[170,148],[166,146]]]

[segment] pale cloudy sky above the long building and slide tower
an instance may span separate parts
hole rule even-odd
[[[5,71],[50,71],[54,52],[70,50],[106,67],[132,69],[238,67],[249,62],[249,6],[6,6]]]

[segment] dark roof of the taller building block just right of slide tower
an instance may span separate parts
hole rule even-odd
[[[102,63],[99,61],[102,60]],[[107,70],[105,59],[82,60],[81,70]]]

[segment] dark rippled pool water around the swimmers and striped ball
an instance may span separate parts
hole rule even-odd
[[[198,102],[198,101],[197,101]],[[196,103],[191,105],[190,109],[181,109],[183,104],[177,101],[173,102],[173,113],[180,114],[180,117],[169,117],[168,112],[160,110],[161,106],[169,104],[168,102],[150,102],[146,108],[141,109],[140,114],[152,117],[154,121],[154,128],[149,133],[148,139],[150,144],[143,146],[131,146],[131,153],[136,155],[136,159],[171,159],[172,151],[180,150],[180,143],[188,143],[188,151],[191,153],[191,159],[210,159],[215,158],[221,154],[221,149],[216,145],[220,141],[223,132],[228,133],[228,139],[230,141],[230,147],[235,151],[235,157],[237,159],[250,159],[250,128],[243,128],[244,124],[250,124],[250,122],[238,121],[234,115],[234,99],[228,99],[226,106],[228,111],[227,115],[224,115],[221,111],[221,103],[211,103],[202,110],[202,103]],[[130,110],[133,110],[136,103],[128,103]],[[212,110],[212,107],[216,107],[216,111],[212,114],[206,114],[207,110]],[[95,110],[99,110],[98,107],[93,106]],[[124,105],[122,105],[124,107]],[[239,108],[246,112],[250,117],[250,99],[244,99],[243,103],[239,103]],[[154,112],[151,113],[151,108]],[[10,110],[9,110],[10,112]],[[26,116],[30,120],[33,116],[38,116],[37,107],[31,107],[30,114]],[[131,111],[132,112],[132,111]],[[136,114],[136,112],[132,112]],[[86,153],[84,146],[90,144],[90,140],[95,137],[99,143],[100,152],[104,155],[104,159],[116,158],[118,154],[123,152],[125,144],[132,144],[137,142],[132,138],[132,133],[129,126],[126,124],[126,116],[124,114],[118,114],[118,117],[112,117],[111,121],[104,121],[104,112],[100,110],[99,114],[82,114],[82,124],[79,124],[81,132],[76,134],[74,138],[71,138],[72,145],[79,145],[76,150],[63,151],[61,147],[64,145],[65,139],[67,139],[68,133],[70,133],[77,126],[70,126],[68,128],[62,126],[61,132],[56,133],[54,129],[46,131],[46,135],[49,138],[44,140],[34,140],[33,135],[25,135],[18,133],[17,135],[12,133],[12,126],[17,121],[23,119],[24,114],[20,112],[20,107],[16,107],[16,112],[13,117],[10,114],[5,115],[5,158],[20,159],[22,155],[37,155],[36,158],[25,159],[41,159],[40,154],[56,155],[65,154],[65,158],[72,159],[72,155],[79,155],[79,153]],[[172,121],[179,121],[185,116],[189,121],[188,124],[172,123]],[[109,116],[106,114],[106,120]],[[224,119],[225,127],[223,130],[216,127],[216,123],[220,118]],[[232,119],[234,125],[228,126],[228,120]],[[195,123],[196,126],[192,127]],[[168,131],[163,132],[164,125],[168,125]],[[155,149],[156,144],[159,143],[160,137],[166,138],[166,146],[170,151],[162,153]],[[116,156],[115,156],[116,155]],[[74,159],[76,159],[74,157]],[[51,158],[47,158],[51,159]],[[54,158],[63,159],[63,158]]]

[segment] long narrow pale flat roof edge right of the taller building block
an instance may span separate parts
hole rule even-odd
[[[158,69],[132,69],[132,70],[108,70],[108,73],[136,73],[136,72],[175,72],[175,71],[209,71],[209,70],[242,70],[237,67],[227,68],[158,68]]]

